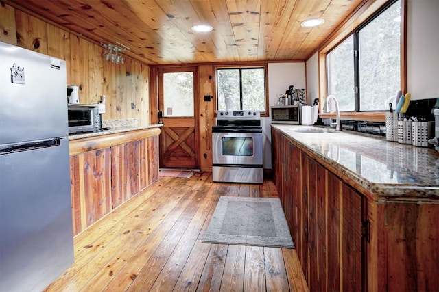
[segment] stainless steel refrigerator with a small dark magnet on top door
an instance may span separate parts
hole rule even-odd
[[[0,291],[73,263],[66,63],[0,42]]]

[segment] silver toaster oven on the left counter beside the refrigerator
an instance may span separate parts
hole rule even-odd
[[[101,117],[97,105],[69,104],[69,134],[97,132]]]

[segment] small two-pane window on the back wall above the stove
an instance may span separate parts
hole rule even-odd
[[[217,109],[266,112],[265,67],[217,68]]]

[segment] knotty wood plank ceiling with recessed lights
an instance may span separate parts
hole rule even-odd
[[[302,61],[362,0],[7,0],[146,64]],[[305,28],[307,18],[324,18]],[[195,24],[213,31],[195,34]]]

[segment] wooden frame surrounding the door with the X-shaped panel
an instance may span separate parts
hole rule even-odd
[[[193,119],[195,122],[195,168],[200,169],[200,106],[199,106],[199,81],[198,81],[198,67],[197,66],[179,66],[179,67],[156,67],[156,92],[157,92],[157,109],[158,111],[162,111],[165,113],[165,110],[163,108],[163,73],[173,73],[173,72],[193,72]],[[157,122],[161,122],[158,118],[158,111],[157,111]],[[172,119],[172,118],[170,118]],[[163,131],[163,130],[162,130]],[[159,138],[161,139],[161,138]],[[161,146],[161,142],[159,143]],[[159,153],[161,153],[161,149],[158,150]],[[161,162],[159,162],[160,164]]]

